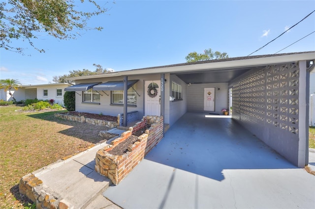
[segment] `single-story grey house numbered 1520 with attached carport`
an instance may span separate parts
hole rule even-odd
[[[137,111],[169,126],[188,111],[222,114],[233,104],[232,120],[304,167],[314,60],[315,52],[294,52],[198,61],[70,78],[76,85],[65,91],[76,92],[76,111]]]

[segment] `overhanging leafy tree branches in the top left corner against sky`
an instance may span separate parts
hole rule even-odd
[[[87,27],[87,21],[105,13],[107,8],[94,0],[86,0],[94,5],[95,11],[78,11],[74,0],[6,0],[0,2],[0,48],[23,52],[23,48],[12,46],[13,39],[22,39],[39,52],[32,39],[41,32],[58,39],[76,38],[78,30],[97,29]],[[84,0],[81,0],[83,3]]]

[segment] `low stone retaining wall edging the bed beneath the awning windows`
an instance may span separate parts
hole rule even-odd
[[[64,120],[75,121],[75,122],[80,122],[80,123],[88,123],[95,126],[105,126],[107,128],[115,128],[119,126],[117,122],[97,120],[93,118],[86,118],[84,116],[65,115],[61,113],[55,113],[54,116],[56,118],[61,118]]]

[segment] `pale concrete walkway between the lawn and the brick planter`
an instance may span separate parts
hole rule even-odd
[[[113,129],[108,132],[120,135],[124,131]],[[76,156],[45,166],[32,174],[61,196],[69,204],[70,209],[120,209],[101,195],[108,188],[110,180],[95,172],[96,152],[107,143],[98,144]]]

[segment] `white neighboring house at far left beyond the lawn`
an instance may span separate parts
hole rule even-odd
[[[11,90],[16,101],[35,99],[50,100],[63,105],[64,88],[70,86],[68,83],[49,83],[40,85],[23,85],[18,90]],[[7,91],[7,101],[13,100]]]

